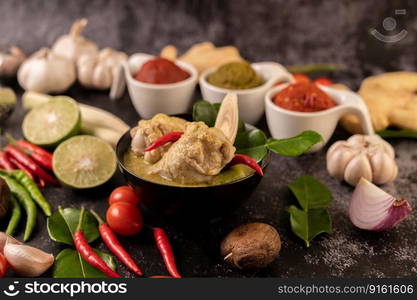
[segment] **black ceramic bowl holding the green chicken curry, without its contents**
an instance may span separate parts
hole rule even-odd
[[[261,180],[261,176],[252,174],[230,183],[203,187],[170,186],[151,182],[129,171],[123,163],[123,156],[131,141],[130,133],[126,132],[116,146],[119,168],[127,183],[140,196],[142,205],[152,213],[196,218],[219,217],[248,198]],[[269,155],[268,153],[261,162],[264,171]]]

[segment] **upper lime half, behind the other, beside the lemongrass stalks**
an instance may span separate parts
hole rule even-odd
[[[32,109],[23,120],[23,135],[39,146],[56,146],[78,133],[81,126],[80,108],[69,97],[60,97]]]

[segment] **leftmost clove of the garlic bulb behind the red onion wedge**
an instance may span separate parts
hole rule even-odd
[[[327,171],[331,176],[336,177],[338,180],[343,180],[345,168],[355,156],[355,152],[349,147],[346,147],[343,143],[345,142],[336,145],[337,147],[335,147],[332,152],[330,152],[330,150],[327,152]]]

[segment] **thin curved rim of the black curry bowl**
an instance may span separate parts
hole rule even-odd
[[[121,154],[121,155],[119,155],[119,152],[120,152],[120,147],[121,147],[122,140],[124,140],[126,138],[126,136],[129,136],[129,138],[131,139],[131,137],[130,137],[130,129],[127,132],[125,132],[120,137],[119,141],[117,142],[117,145],[116,145],[116,158],[117,158],[117,163],[118,163],[119,167],[122,168],[125,172],[129,173],[129,175],[131,175],[131,176],[133,176],[133,177],[135,177],[137,179],[140,179],[142,181],[145,181],[147,183],[150,183],[150,184],[156,184],[156,185],[159,185],[159,186],[162,186],[162,187],[165,187],[165,188],[166,187],[170,187],[170,188],[204,189],[204,188],[216,188],[216,187],[228,186],[228,185],[236,184],[238,182],[247,180],[249,178],[252,178],[253,176],[259,176],[258,174],[256,174],[255,172],[253,172],[250,175],[247,175],[245,177],[242,177],[242,178],[233,180],[231,182],[226,182],[226,183],[223,183],[223,184],[216,184],[216,185],[202,185],[202,186],[193,186],[193,185],[190,185],[190,186],[187,186],[187,185],[180,186],[180,185],[164,184],[164,183],[158,183],[158,182],[150,181],[150,180],[148,180],[146,178],[143,178],[143,177],[138,176],[137,174],[131,172],[124,165],[123,156],[124,156],[124,154],[126,152],[123,152],[123,154]],[[271,160],[271,151],[270,150],[267,150],[267,153],[266,153],[265,157],[261,160],[261,168],[262,168],[262,170],[264,170],[269,165],[270,160]]]

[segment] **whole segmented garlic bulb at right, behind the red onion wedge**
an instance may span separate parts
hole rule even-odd
[[[398,175],[392,146],[378,135],[355,134],[334,143],[327,151],[327,171],[356,186],[363,177],[376,184],[393,181]]]

